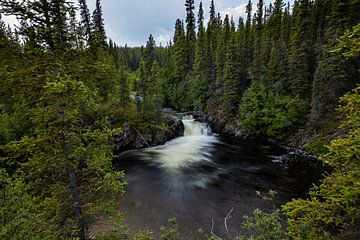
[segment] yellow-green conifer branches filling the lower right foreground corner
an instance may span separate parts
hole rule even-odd
[[[323,157],[335,168],[309,199],[287,203],[288,231],[299,239],[356,239],[360,221],[360,87],[341,98],[346,138],[332,141]]]

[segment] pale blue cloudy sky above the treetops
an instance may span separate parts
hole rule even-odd
[[[95,0],[87,2],[92,12]],[[207,21],[211,0],[202,2]],[[257,0],[252,2],[255,11]],[[270,0],[265,2],[269,3]],[[200,0],[195,0],[196,16],[199,3]],[[248,0],[215,0],[215,8],[223,18],[228,14],[237,22],[239,16],[245,18],[247,3]],[[176,19],[185,20],[186,16],[185,0],[102,0],[101,4],[107,36],[117,45],[145,45],[150,34],[154,36],[157,45],[166,45],[173,36]],[[6,17],[5,21],[16,22],[13,17]]]

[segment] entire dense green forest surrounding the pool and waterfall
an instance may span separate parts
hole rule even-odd
[[[357,239],[360,1],[254,4],[235,20],[212,0],[204,23],[202,3],[195,16],[186,0],[167,46],[150,35],[135,48],[107,39],[100,0],[92,13],[86,0],[0,0],[0,13],[19,20],[12,29],[0,15],[1,239],[84,240],[103,216],[119,227],[96,239],[128,239],[111,138],[125,124],[164,128],[163,107],[280,141],[305,129],[309,149],[333,172],[308,199],[246,217],[257,232],[249,239]],[[339,125],[342,138],[324,146]],[[176,226],[161,239],[180,239]]]

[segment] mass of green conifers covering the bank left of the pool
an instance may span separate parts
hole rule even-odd
[[[139,51],[121,49],[129,66],[114,58],[99,0],[92,13],[85,0],[0,7],[19,20],[0,16],[0,238],[87,239],[124,191],[112,137],[158,121],[130,98]]]

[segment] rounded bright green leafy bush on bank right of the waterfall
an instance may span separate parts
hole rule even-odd
[[[274,96],[264,84],[253,84],[244,93],[239,118],[248,130],[283,139],[303,124],[306,111],[306,102]]]

